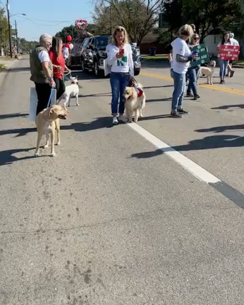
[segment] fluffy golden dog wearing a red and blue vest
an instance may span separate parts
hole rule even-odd
[[[137,87],[126,87],[124,91],[125,110],[129,123],[132,122],[132,115],[135,112],[135,123],[138,117],[143,117],[142,110],[146,105],[146,96],[142,89],[142,85],[138,83]]]

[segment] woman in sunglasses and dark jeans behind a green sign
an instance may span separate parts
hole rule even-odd
[[[199,45],[199,35],[193,34],[193,36],[189,39],[189,48],[192,51],[193,48],[197,45]],[[200,96],[197,93],[197,73],[200,69],[200,65],[196,67],[190,67],[188,69],[188,77],[189,77],[189,84],[187,89],[187,96],[188,97],[194,97],[194,100],[197,100],[200,98]]]

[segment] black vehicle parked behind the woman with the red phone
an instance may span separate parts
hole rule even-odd
[[[106,46],[110,36],[93,36],[85,38],[81,45],[81,70],[93,70],[96,76],[104,76],[103,61],[106,59]],[[132,45],[134,73],[139,75],[141,54],[137,46]]]

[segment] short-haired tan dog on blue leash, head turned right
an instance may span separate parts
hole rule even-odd
[[[54,139],[55,139],[55,129],[57,130],[57,145],[60,145],[60,125],[59,118],[66,119],[68,115],[68,111],[59,106],[52,105],[51,107],[42,110],[38,113],[36,118],[36,126],[37,126],[37,148],[35,151],[35,157],[40,156],[40,143],[42,140],[42,136],[46,135],[46,145],[44,148],[48,148],[49,144],[49,136],[51,134],[51,156],[55,156],[54,152]]]

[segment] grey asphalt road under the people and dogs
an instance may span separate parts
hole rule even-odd
[[[78,75],[56,158],[33,158],[28,60],[2,85],[0,304],[242,305],[242,70],[173,119],[145,67],[145,118],[113,128],[109,80]]]

